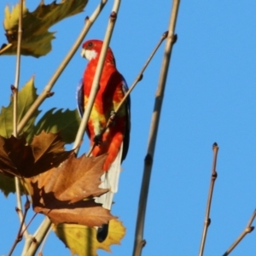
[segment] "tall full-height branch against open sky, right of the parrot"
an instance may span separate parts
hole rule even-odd
[[[173,0],[172,4],[172,15],[169,22],[168,37],[166,38],[166,48],[164,52],[164,58],[162,62],[162,68],[160,71],[160,80],[158,84],[158,89],[156,92],[154,100],[154,112],[152,114],[151,127],[148,136],[148,150],[147,155],[144,160],[144,171],[143,171],[143,183],[141,187],[140,199],[138,204],[137,213],[137,225],[135,233],[135,241],[133,247],[133,256],[139,256],[142,253],[142,248],[145,245],[143,240],[143,230],[144,221],[148,200],[148,189],[150,183],[150,176],[152,171],[152,163],[154,159],[154,148],[157,137],[158,125],[160,121],[160,111],[162,106],[162,101],[164,97],[164,91],[166,87],[166,78],[168,73],[168,67],[170,64],[172,46],[176,42],[177,37],[174,34],[176,21],[177,21],[177,11],[180,1]]]

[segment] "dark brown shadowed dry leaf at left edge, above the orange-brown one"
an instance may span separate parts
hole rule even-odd
[[[73,154],[65,151],[58,133],[42,131],[30,145],[24,137],[0,136],[0,172],[13,177],[32,177],[59,166]]]

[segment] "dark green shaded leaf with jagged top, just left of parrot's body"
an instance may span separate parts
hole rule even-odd
[[[78,111],[76,109],[67,109],[64,112],[62,112],[62,109],[59,109],[55,113],[54,111],[55,108],[50,109],[38,121],[34,128],[35,134],[39,134],[41,131],[47,133],[60,132],[63,142],[73,143],[81,121]]]

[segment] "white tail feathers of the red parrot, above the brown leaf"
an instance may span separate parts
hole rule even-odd
[[[108,193],[96,197],[96,203],[102,204],[102,207],[110,210],[113,203],[113,195],[118,191],[119,187],[119,175],[121,172],[121,161],[123,154],[123,143],[119,149],[119,153],[110,166],[108,172],[105,172],[102,177],[102,183],[99,186],[101,189],[109,189]]]

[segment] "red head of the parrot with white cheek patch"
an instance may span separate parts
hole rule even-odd
[[[101,40],[88,40],[83,44],[83,49],[81,52],[82,57],[86,58],[88,61],[92,59],[98,59],[102,50],[103,42]],[[112,50],[108,47],[108,56],[113,56]]]

